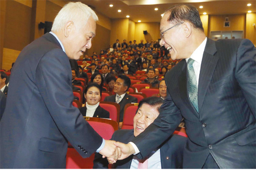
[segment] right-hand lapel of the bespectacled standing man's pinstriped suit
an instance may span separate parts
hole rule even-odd
[[[203,100],[207,92],[208,86],[213,76],[218,57],[213,56],[217,52],[215,42],[207,38],[206,46],[203,52],[201,63],[199,83],[198,83],[198,110],[199,114],[203,105]]]

